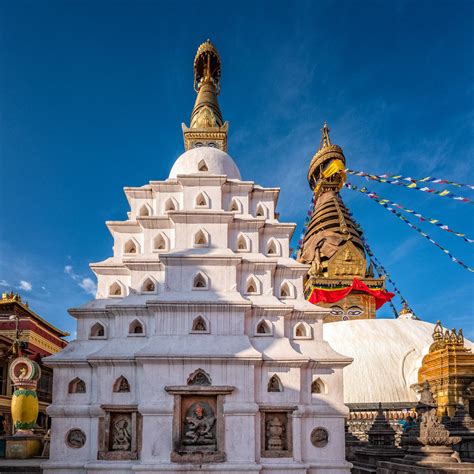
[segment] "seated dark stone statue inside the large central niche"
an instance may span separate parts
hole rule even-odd
[[[193,403],[184,421],[183,444],[215,447],[217,443],[215,424],[216,417],[208,403]]]

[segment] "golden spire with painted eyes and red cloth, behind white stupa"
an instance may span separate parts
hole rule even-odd
[[[375,310],[390,299],[385,277],[374,277],[362,230],[339,194],[346,180],[345,168],[344,153],[331,143],[325,123],[309,166],[314,209],[298,253],[298,261],[311,265],[305,280],[307,298],[331,309],[325,322],[375,318]]]

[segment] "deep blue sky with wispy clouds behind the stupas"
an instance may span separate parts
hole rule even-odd
[[[353,169],[472,184],[473,9],[459,0],[2,2],[2,290],[21,287],[35,311],[74,331],[67,308],[91,296],[89,262],[111,255],[104,222],[126,219],[123,187],[165,179],[183,151],[192,61],[208,37],[222,57],[229,153],[244,179],[281,187],[281,218],[299,224],[296,236],[325,120]],[[469,204],[351,182],[474,236]],[[474,275],[367,197],[343,198],[415,312],[474,338]],[[469,244],[410,219],[474,267]],[[388,306],[379,315],[392,317]]]

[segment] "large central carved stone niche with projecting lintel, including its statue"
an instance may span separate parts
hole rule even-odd
[[[199,385],[169,386],[174,395],[173,451],[171,462],[224,462],[224,395],[235,387],[201,384],[201,377],[191,377],[188,383]],[[196,382],[195,382],[196,383]]]

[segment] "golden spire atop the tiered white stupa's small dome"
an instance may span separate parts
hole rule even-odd
[[[183,124],[186,150],[212,146],[227,151],[228,125],[222,119],[217,100],[220,78],[220,56],[208,39],[199,46],[194,58],[194,90],[197,97],[189,128]]]

